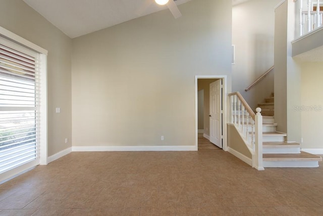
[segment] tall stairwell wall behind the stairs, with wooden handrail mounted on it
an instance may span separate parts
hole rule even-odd
[[[245,92],[274,65],[275,7],[281,0],[252,0],[232,8],[232,91],[239,91],[252,109],[274,92],[274,72]]]

